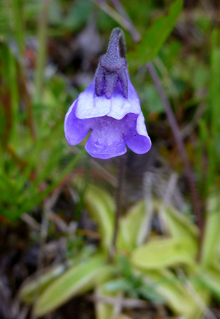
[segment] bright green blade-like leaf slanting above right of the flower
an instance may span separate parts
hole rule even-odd
[[[152,60],[161,49],[172,30],[181,12],[182,0],[176,0],[170,6],[168,14],[155,19],[143,35],[142,40],[135,46],[135,50],[128,53],[129,62],[133,67]]]

